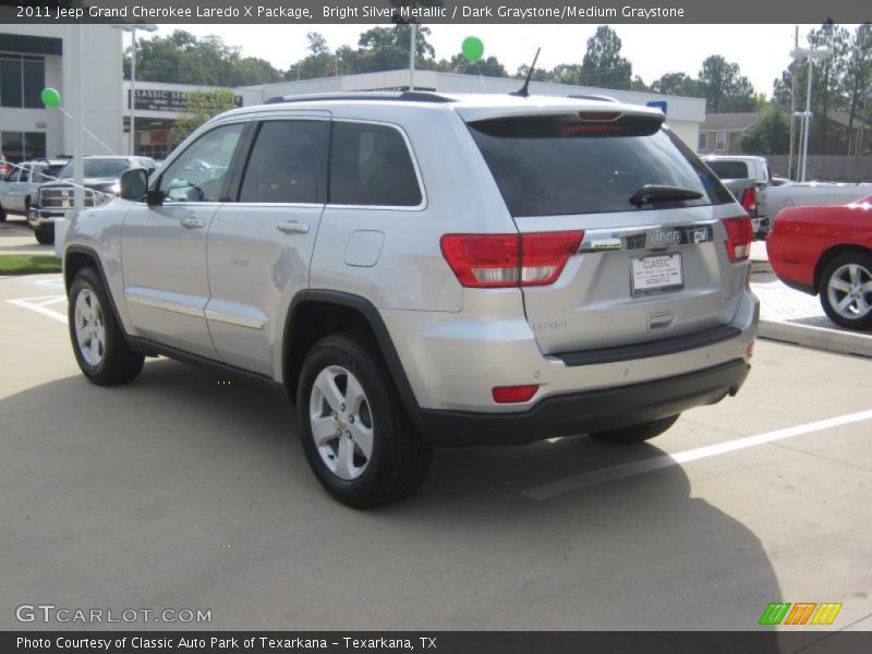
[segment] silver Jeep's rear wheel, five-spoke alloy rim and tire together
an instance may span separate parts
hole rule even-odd
[[[296,397],[308,464],[337,500],[364,509],[411,495],[433,449],[414,429],[378,350],[356,332],[310,350]]]

